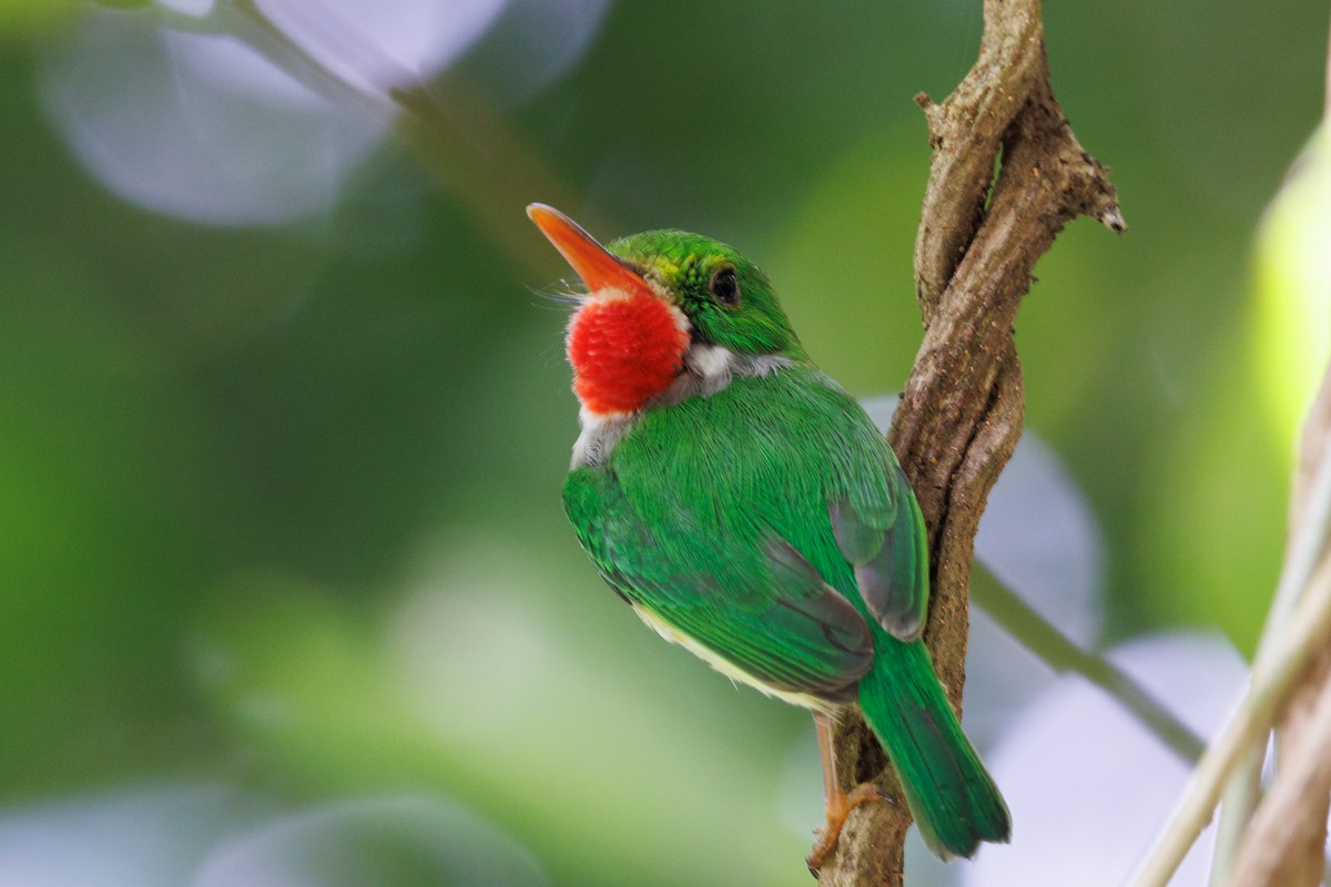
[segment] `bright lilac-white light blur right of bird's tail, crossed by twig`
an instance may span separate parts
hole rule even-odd
[[[1233,710],[1247,669],[1218,637],[1139,638],[1111,653],[1202,737]],[[1029,705],[988,753],[1013,815],[1013,842],[986,846],[964,887],[1110,887],[1123,883],[1182,794],[1191,766],[1099,689],[1067,677]],[[1207,882],[1203,832],[1170,882]]]

